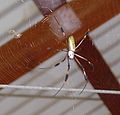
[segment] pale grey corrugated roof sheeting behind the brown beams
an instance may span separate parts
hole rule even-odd
[[[10,29],[22,33],[43,18],[32,0],[0,0],[0,45],[13,38]],[[120,15],[113,17],[107,23],[90,32],[90,36],[97,48],[100,50],[105,61],[110,66],[115,76],[120,76]],[[63,59],[65,53],[58,53],[43,64],[11,84],[31,86],[60,87],[66,73],[67,62],[52,69],[41,70],[39,67],[48,67]],[[76,63],[71,62],[70,77],[65,85],[67,88],[82,88],[84,76],[78,69]],[[101,68],[102,69],[102,68]],[[81,75],[81,77],[79,77]],[[109,78],[108,78],[109,79]],[[92,89],[90,83],[86,88]],[[42,96],[44,94],[44,96]],[[1,115],[108,115],[109,110],[103,104],[97,94],[83,93],[67,94],[58,97],[49,97],[54,92],[40,92],[29,90],[3,89],[0,92],[0,114]],[[45,96],[46,95],[46,96]],[[61,98],[59,98],[61,97]],[[92,105],[92,106],[91,106]]]

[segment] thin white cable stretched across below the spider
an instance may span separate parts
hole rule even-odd
[[[58,91],[59,88],[54,87],[39,87],[39,86],[23,86],[23,85],[5,85],[0,84],[0,88],[22,89],[22,90],[40,90],[40,91]],[[66,89],[62,88],[61,91],[65,92],[80,92],[83,89]],[[86,93],[99,93],[99,94],[117,94],[120,95],[120,91],[117,90],[101,90],[101,89],[85,89]]]

